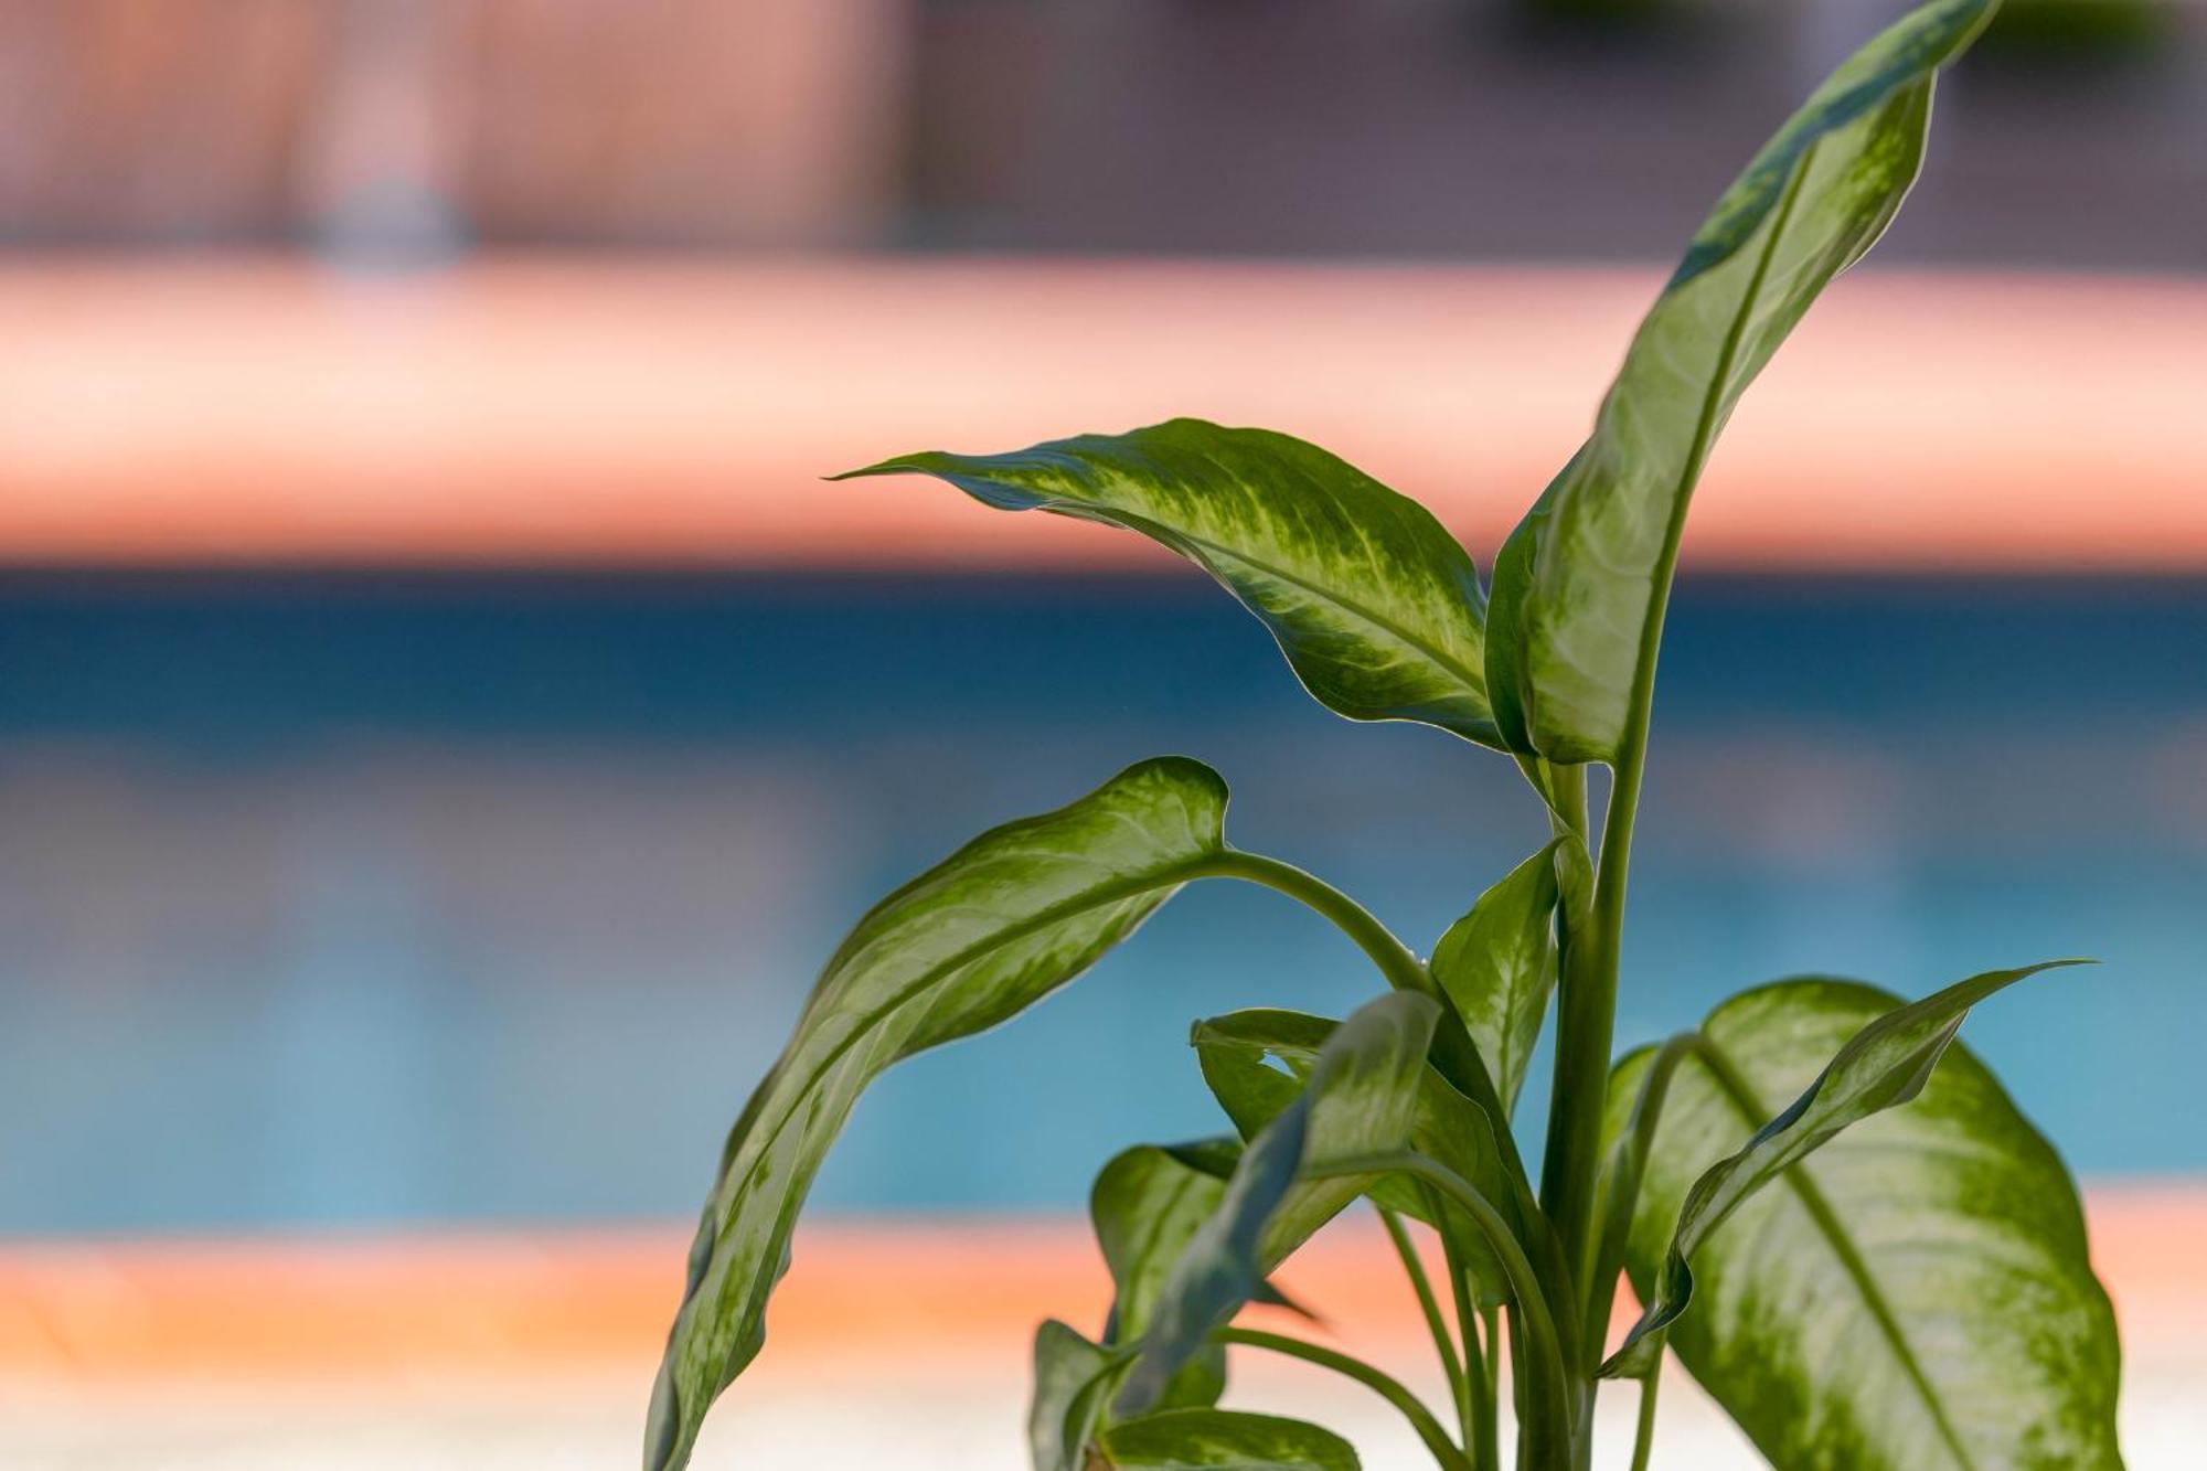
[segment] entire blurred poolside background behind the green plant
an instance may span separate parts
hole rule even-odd
[[[0,1460],[618,1464],[843,928],[1137,758],[1430,948],[1543,837],[1505,762],[1130,537],[819,475],[1194,413],[1485,565],[1898,9],[0,0]],[[1697,501],[1620,1016],[2101,956],[1969,1040],[2088,1186],[2134,1464],[2207,1429],[2203,345],[2207,11],[2008,0]],[[1216,1126],[1187,1020],[1368,990],[1194,892],[892,1073],[708,1456],[1020,1464],[1086,1182]]]

